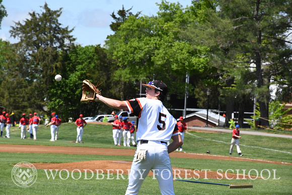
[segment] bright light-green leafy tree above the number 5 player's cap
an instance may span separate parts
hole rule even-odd
[[[196,78],[196,82],[214,70],[207,66],[208,59],[204,57],[207,48],[194,49],[179,35],[179,30],[195,17],[192,10],[164,1],[159,7],[158,16],[129,16],[108,37],[106,48],[121,68],[123,79],[132,82],[140,78],[161,79],[169,84],[172,93],[185,94],[186,74]],[[193,89],[193,85],[188,85],[190,92]]]

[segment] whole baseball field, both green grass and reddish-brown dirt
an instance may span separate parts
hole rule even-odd
[[[10,139],[0,138],[0,193],[124,194],[135,147],[114,146],[111,125],[88,124],[83,144],[73,142],[76,135],[74,123],[63,123],[55,142],[49,142],[50,129],[44,125],[36,141],[20,139],[20,129],[11,127]],[[174,181],[175,193],[291,194],[291,139],[242,135],[242,157],[236,147],[229,155],[230,141],[231,133],[185,133],[183,152],[170,154],[174,177],[208,183]],[[209,183],[251,183],[253,188]],[[160,194],[153,174],[140,194]]]

